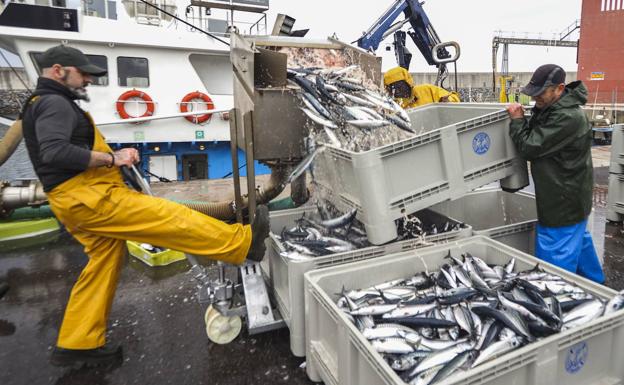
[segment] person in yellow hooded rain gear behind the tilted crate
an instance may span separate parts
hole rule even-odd
[[[414,85],[412,75],[403,67],[396,67],[384,74],[386,91],[401,107],[414,108],[429,103],[459,103],[457,92],[447,91],[433,84]]]

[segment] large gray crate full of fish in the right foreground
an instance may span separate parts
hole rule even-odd
[[[312,271],[305,281],[313,381],[624,380],[622,293],[487,237]]]

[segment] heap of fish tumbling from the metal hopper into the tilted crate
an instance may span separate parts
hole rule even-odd
[[[322,127],[313,130],[319,143],[359,152],[415,133],[405,110],[356,65],[289,68],[288,79],[301,89],[301,110]]]

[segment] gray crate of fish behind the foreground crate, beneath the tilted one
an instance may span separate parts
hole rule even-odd
[[[400,241],[383,246],[368,243],[354,213],[319,214],[316,206],[271,212],[267,245],[270,282],[276,303],[290,330],[294,355],[305,355],[303,275],[335,266],[404,250],[469,237],[469,225],[431,210],[423,210],[398,224]],[[325,211],[325,210],[324,210]]]

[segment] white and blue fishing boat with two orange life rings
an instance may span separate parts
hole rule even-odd
[[[80,104],[112,148],[136,147],[151,181],[218,179],[232,172],[229,32],[267,34],[268,8],[268,0],[193,0],[181,11],[172,0],[9,0],[0,48],[19,56],[31,84],[46,49],[80,49],[108,70]]]

